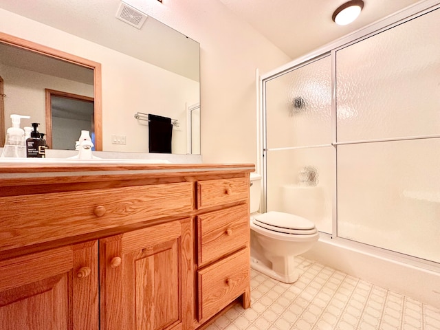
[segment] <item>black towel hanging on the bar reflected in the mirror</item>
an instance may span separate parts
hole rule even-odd
[[[171,153],[173,124],[171,118],[148,114],[148,147],[150,153]]]

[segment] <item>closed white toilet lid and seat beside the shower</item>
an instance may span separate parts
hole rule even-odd
[[[254,224],[275,232],[309,235],[318,232],[313,222],[285,212],[271,211],[254,217]]]

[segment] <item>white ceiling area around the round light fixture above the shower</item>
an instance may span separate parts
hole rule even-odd
[[[419,0],[364,0],[360,17],[345,26],[331,20],[348,0],[219,0],[293,59],[402,10]]]

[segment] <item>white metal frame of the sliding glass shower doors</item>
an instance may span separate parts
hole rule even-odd
[[[380,248],[374,245],[369,245],[366,243],[360,243],[358,241],[352,241],[350,239],[345,239],[343,237],[338,236],[338,196],[337,196],[337,188],[338,188],[338,169],[337,169],[337,146],[342,144],[354,144],[354,143],[364,143],[364,142],[386,142],[386,141],[394,141],[394,140],[402,140],[402,138],[388,138],[388,139],[380,139],[380,140],[368,140],[368,141],[354,141],[354,142],[337,142],[336,140],[336,52],[341,50],[344,47],[348,47],[353,43],[357,43],[362,41],[363,39],[369,38],[375,34],[379,34],[380,32],[384,32],[388,29],[394,28],[397,25],[410,21],[411,19],[415,19],[423,14],[427,14],[432,10],[436,10],[440,8],[439,0],[427,0],[424,3],[417,3],[412,5],[404,10],[401,10],[385,19],[378,21],[377,23],[373,23],[371,25],[367,25],[365,28],[361,30],[357,30],[347,36],[344,36],[340,39],[337,39],[333,43],[329,43],[325,47],[321,47],[318,50],[306,54],[292,62],[289,62],[277,69],[274,69],[266,74],[259,76],[258,85],[257,85],[257,93],[260,96],[260,100],[257,103],[257,118],[261,120],[259,124],[259,143],[257,146],[259,150],[257,150],[257,155],[259,156],[259,164],[257,168],[261,171],[261,184],[262,184],[262,199],[261,199],[261,212],[267,212],[267,152],[268,151],[276,151],[276,150],[293,150],[298,148],[311,148],[311,147],[322,147],[322,146],[333,146],[333,195],[332,195],[332,232],[331,234],[320,232],[320,235],[325,236],[329,239],[332,239],[342,245],[345,245],[349,248],[354,249],[362,249],[371,251],[372,253],[384,256],[386,258],[392,258],[393,260],[401,261],[404,263],[409,263],[410,265],[415,265],[418,267],[423,267],[428,270],[432,270],[434,272],[440,272],[440,263],[436,263],[434,261],[429,261],[426,259],[421,259],[416,256],[410,256],[408,254],[403,254],[401,252],[395,252],[392,250],[386,250],[384,248]],[[331,56],[331,144],[322,144],[315,146],[293,146],[287,148],[267,148],[267,109],[266,109],[266,83],[270,80],[277,78],[278,76],[282,76],[283,74],[287,74],[288,72],[292,72],[295,69],[299,69],[300,67],[304,67],[314,61],[318,61],[325,56]],[[259,120],[257,120],[257,125]],[[426,135],[426,136],[418,136],[415,140],[421,138],[431,138],[431,137],[440,137],[440,135]]]

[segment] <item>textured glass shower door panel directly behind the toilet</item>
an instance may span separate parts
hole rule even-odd
[[[331,233],[331,61],[325,56],[265,82],[266,210]]]

